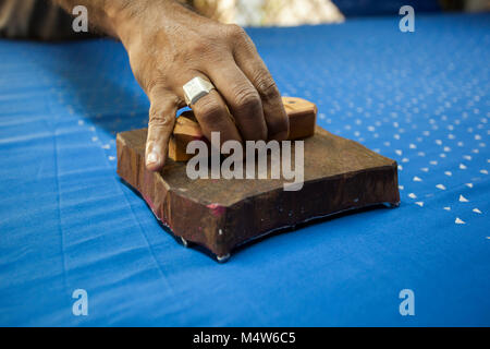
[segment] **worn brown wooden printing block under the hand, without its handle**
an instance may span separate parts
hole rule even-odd
[[[396,161],[320,127],[315,131],[304,140],[299,191],[284,191],[282,179],[191,180],[186,164],[172,159],[150,172],[146,129],[118,134],[118,173],[176,237],[205,246],[218,261],[282,228],[381,203],[399,205]]]

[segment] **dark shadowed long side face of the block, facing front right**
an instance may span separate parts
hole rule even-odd
[[[356,188],[355,183],[358,183]],[[332,189],[332,195],[336,200],[322,198],[321,193],[329,188]],[[298,192],[275,190],[232,205],[229,208],[224,229],[235,233],[223,241],[226,249],[232,251],[247,241],[277,230],[294,229],[303,222],[346,210],[378,204],[390,204],[396,207],[400,204],[395,161],[393,166],[346,173],[334,179],[305,182],[304,190],[303,193],[303,190]]]

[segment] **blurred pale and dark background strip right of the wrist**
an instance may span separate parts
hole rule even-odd
[[[490,10],[490,0],[191,0],[200,13],[242,26],[294,26],[340,23],[351,16],[397,13],[412,5],[417,13]]]

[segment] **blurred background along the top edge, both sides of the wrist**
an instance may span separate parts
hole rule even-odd
[[[417,14],[482,12],[490,0],[177,0],[223,23],[242,26],[296,26],[341,23],[354,16],[393,15],[403,5]],[[81,39],[73,17],[51,0],[0,0],[0,37],[40,40]]]

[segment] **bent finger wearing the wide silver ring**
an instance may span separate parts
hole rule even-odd
[[[199,72],[189,74],[187,76],[187,81],[196,76],[209,81],[207,76]],[[233,118],[230,115],[230,111],[228,110],[226,104],[216,89],[211,89],[208,95],[199,98],[191,107],[197,121],[199,122],[200,128],[203,129],[204,135],[209,141],[211,141],[211,132],[219,132],[221,144],[226,141],[242,142],[242,137],[236,129]]]

